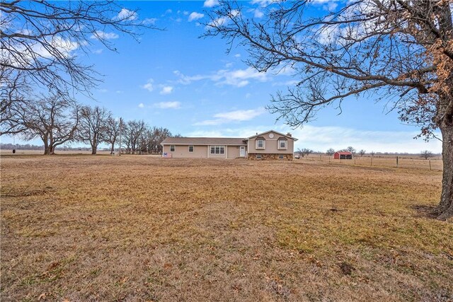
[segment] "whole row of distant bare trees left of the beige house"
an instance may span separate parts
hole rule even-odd
[[[1,123],[1,130],[25,140],[41,139],[44,154],[54,154],[57,146],[71,142],[91,146],[91,154],[97,153],[100,144],[108,144],[110,153],[114,153],[115,144],[124,146],[128,154],[161,153],[161,142],[172,136],[166,128],[150,127],[143,120],[123,122],[105,108],[57,95],[28,100]]]

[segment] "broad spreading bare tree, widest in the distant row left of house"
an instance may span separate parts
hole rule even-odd
[[[26,128],[24,138],[42,139],[45,155],[54,154],[57,146],[74,140],[79,125],[79,108],[74,101],[52,95],[28,103],[21,112],[19,122]]]

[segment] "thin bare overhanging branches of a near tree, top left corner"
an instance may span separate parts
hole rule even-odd
[[[110,37],[136,39],[141,29],[153,28],[115,1],[0,1],[0,14],[0,81],[6,83],[0,87],[0,135],[22,130],[11,113],[30,100],[30,90],[57,100],[91,96],[100,75],[76,54],[90,53],[97,42],[116,50]]]

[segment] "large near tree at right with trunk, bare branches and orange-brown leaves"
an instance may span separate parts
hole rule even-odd
[[[275,1],[257,21],[248,7],[220,1],[205,36],[243,45],[258,71],[299,77],[268,107],[295,127],[350,95],[381,95],[421,134],[442,133],[438,218],[453,216],[453,23],[451,1],[355,0],[321,17],[311,1]],[[243,3],[242,3],[243,4]]]

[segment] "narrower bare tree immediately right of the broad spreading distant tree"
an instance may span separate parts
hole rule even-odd
[[[93,155],[97,153],[99,144],[107,139],[110,115],[108,110],[98,106],[84,106],[80,110],[76,139],[89,144]]]

